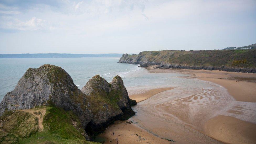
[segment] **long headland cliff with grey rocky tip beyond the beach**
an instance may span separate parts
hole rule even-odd
[[[157,65],[157,68],[256,73],[256,50],[143,51],[138,55],[123,54],[118,63],[140,64],[141,67]]]

